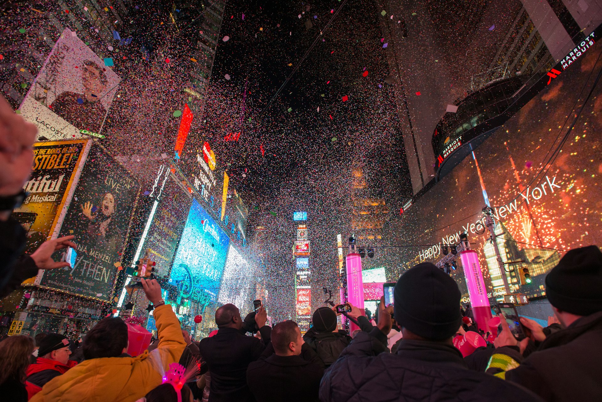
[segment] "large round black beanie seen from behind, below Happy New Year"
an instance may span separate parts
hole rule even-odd
[[[395,286],[395,321],[432,341],[450,338],[462,324],[456,281],[433,263],[408,269]]]

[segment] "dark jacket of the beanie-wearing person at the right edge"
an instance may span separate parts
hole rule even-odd
[[[509,348],[498,348],[520,361]],[[538,351],[506,371],[506,380],[529,388],[546,401],[602,400],[602,312],[550,334]]]

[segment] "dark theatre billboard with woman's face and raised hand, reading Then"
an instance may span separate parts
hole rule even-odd
[[[75,265],[45,271],[40,284],[108,301],[139,190],[131,174],[94,143],[58,233],[75,236]]]

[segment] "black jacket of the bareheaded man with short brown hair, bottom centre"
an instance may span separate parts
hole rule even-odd
[[[269,352],[272,353],[269,353]],[[258,402],[319,402],[324,369],[308,344],[300,356],[278,356],[272,344],[247,369],[247,384]]]

